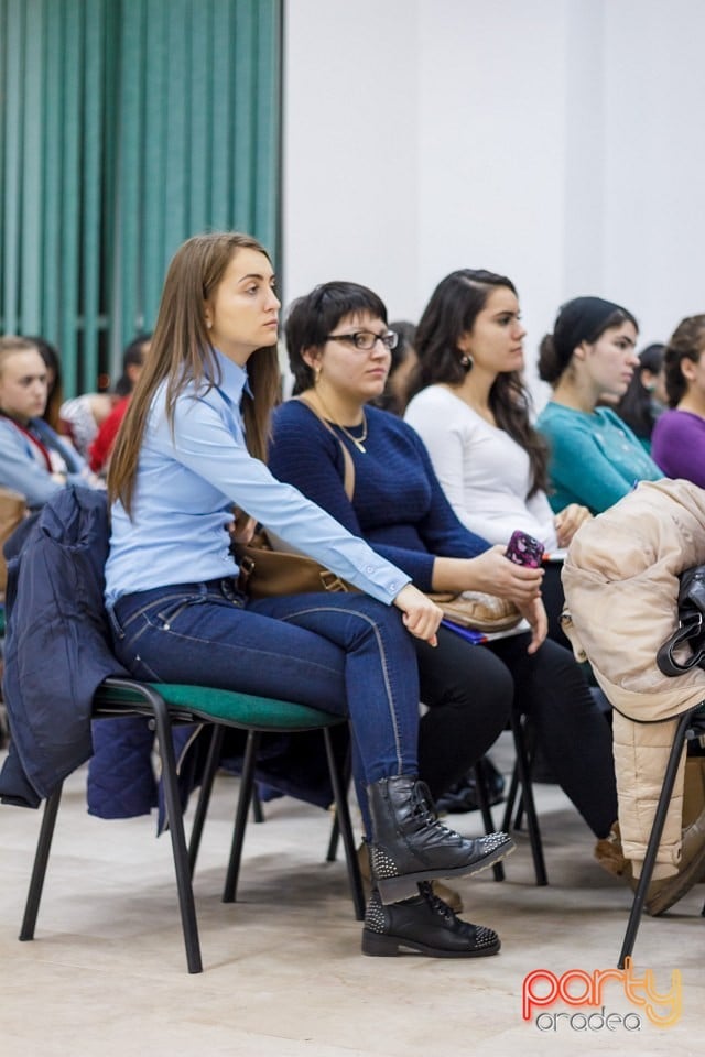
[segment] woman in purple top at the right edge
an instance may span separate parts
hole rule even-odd
[[[705,315],[687,316],[665,349],[670,411],[653,429],[652,456],[669,477],[705,488]]]

